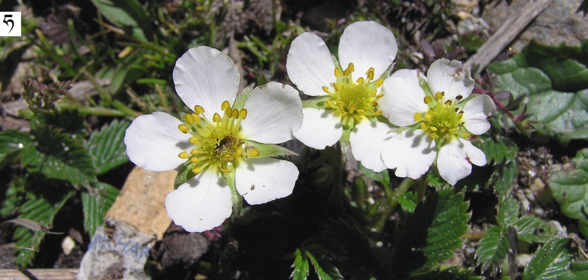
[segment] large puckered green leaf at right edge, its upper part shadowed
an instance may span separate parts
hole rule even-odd
[[[588,138],[588,40],[581,46],[531,42],[512,59],[489,66],[497,89],[527,95],[529,120],[544,136],[562,143]],[[520,110],[519,110],[520,112]]]

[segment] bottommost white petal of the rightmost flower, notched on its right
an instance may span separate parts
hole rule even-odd
[[[467,140],[452,139],[439,150],[437,170],[443,180],[451,185],[472,173],[472,164],[483,166],[486,155]]]

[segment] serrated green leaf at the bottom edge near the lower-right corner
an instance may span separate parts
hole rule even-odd
[[[539,248],[524,269],[523,280],[559,279],[570,271],[570,239],[552,239]]]

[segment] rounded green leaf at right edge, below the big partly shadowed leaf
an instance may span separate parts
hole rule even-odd
[[[560,204],[567,217],[582,220],[588,218],[588,149],[579,151],[573,160],[578,169],[557,171],[549,178],[549,188],[554,200]]]

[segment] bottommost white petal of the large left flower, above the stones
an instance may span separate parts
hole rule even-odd
[[[189,232],[218,227],[230,217],[232,205],[230,189],[215,168],[208,168],[165,197],[168,216]]]

